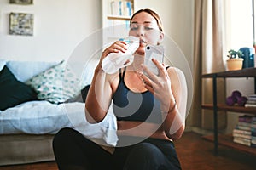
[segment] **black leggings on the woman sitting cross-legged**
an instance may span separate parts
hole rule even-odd
[[[62,128],[55,134],[53,149],[60,170],[181,169],[174,145],[161,139],[116,147],[111,154],[72,128]]]

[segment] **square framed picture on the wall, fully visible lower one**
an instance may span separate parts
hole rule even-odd
[[[33,14],[10,13],[9,14],[9,34],[32,36],[33,35]]]

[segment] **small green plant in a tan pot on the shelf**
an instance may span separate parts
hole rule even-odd
[[[243,54],[240,50],[236,51],[234,49],[230,49],[228,52],[227,59],[227,69],[228,71],[236,71],[241,70],[243,59],[241,58]]]

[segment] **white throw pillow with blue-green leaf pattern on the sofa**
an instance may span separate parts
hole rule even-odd
[[[38,99],[60,104],[77,96],[82,89],[80,80],[64,61],[32,77],[26,84],[38,93]]]

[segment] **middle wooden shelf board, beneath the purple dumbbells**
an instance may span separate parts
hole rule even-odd
[[[213,110],[212,104],[205,104],[201,105],[202,109]],[[218,111],[233,111],[233,112],[240,112],[240,113],[250,113],[256,115],[256,107],[242,107],[242,106],[229,106],[224,104],[217,105]]]

